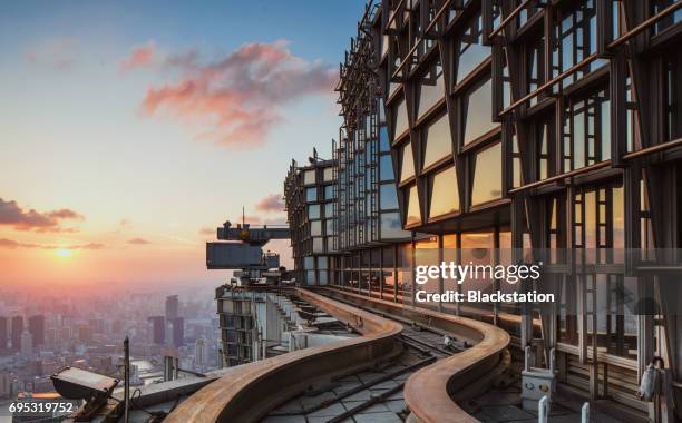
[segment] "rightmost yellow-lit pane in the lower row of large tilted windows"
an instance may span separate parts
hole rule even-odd
[[[501,144],[476,155],[471,204],[478,205],[501,197]]]

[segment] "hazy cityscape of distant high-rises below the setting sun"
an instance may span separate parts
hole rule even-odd
[[[131,385],[163,381],[163,357],[179,367],[218,367],[213,289],[64,294],[0,288],[0,403],[22,392],[53,392],[49,376],[66,366],[120,378],[130,340]]]

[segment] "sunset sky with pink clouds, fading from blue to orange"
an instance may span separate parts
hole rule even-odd
[[[0,286],[221,282],[215,227],[330,155],[363,4],[0,2]]]

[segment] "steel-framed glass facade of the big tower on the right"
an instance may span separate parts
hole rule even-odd
[[[682,295],[679,275],[633,270],[646,252],[682,246],[682,11],[645,26],[673,2],[523,3],[368,4],[338,86],[331,281],[419,306],[415,265],[466,263],[471,252],[485,263],[504,260],[500,252],[545,258],[556,264],[543,281],[561,291],[555,306],[484,312],[518,345],[556,347],[563,383],[643,409],[634,391],[653,355],[682,378],[676,299],[660,304],[668,328],[623,307],[623,293]],[[382,223],[391,214],[392,239]],[[561,252],[592,270],[559,266]],[[429,288],[444,289],[442,279]],[[604,381],[608,366],[621,381]]]

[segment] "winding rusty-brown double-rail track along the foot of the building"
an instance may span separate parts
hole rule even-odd
[[[509,364],[509,335],[487,323],[338,289],[293,293],[362,336],[242,365],[183,402],[167,422],[256,422],[311,385],[387,363],[405,345],[402,324],[396,318],[451,334],[470,346],[408,378],[403,392],[408,421],[476,421],[457,401],[487,390]]]

